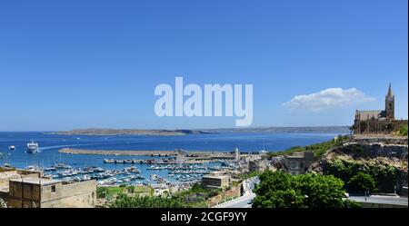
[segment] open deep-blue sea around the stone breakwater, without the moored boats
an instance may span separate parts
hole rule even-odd
[[[303,146],[334,139],[341,133],[201,133],[175,136],[161,135],[61,135],[43,132],[0,132],[0,165],[9,164],[16,168],[29,165],[50,167],[55,163],[65,163],[73,168],[87,166],[102,167],[107,170],[124,169],[123,164],[104,163],[104,159],[152,159],[150,156],[116,156],[66,154],[58,152],[62,148],[86,150],[124,150],[124,151],[213,151],[268,152],[283,151],[294,146]],[[27,142],[38,142],[40,152],[27,153]],[[14,145],[15,150],[9,150]],[[145,178],[155,173],[168,178],[168,172],[152,172],[149,165],[137,166]]]

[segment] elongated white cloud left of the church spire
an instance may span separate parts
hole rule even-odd
[[[355,88],[348,90],[327,88],[319,93],[294,96],[291,101],[283,103],[283,105],[293,110],[319,112],[370,101],[374,101],[374,98],[366,96],[365,93]]]

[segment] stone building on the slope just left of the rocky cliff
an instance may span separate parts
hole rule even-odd
[[[314,152],[295,152],[293,155],[284,156],[283,170],[292,175],[303,174],[315,161]]]

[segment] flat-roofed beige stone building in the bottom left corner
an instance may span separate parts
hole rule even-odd
[[[0,170],[0,198],[11,208],[94,208],[96,182],[61,182],[42,172]]]

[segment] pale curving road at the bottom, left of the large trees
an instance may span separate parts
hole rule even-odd
[[[214,208],[251,208],[251,202],[254,200],[255,194],[253,192],[256,183],[259,183],[258,178],[251,178],[244,180],[243,189],[244,194],[232,201],[226,201],[224,203],[215,205]]]

